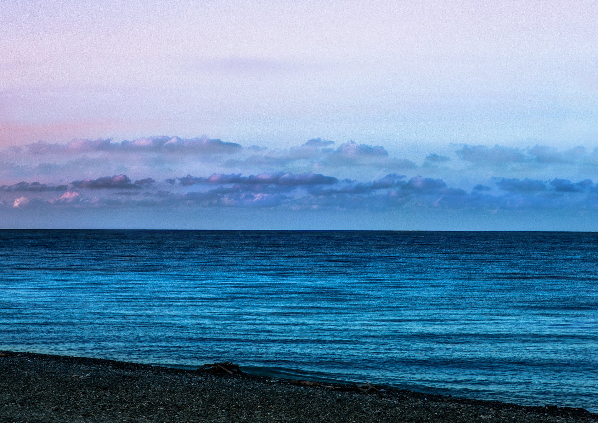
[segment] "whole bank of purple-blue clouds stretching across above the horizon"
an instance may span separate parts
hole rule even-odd
[[[0,206],[598,209],[598,187],[585,179],[592,169],[598,170],[598,150],[588,153],[584,147],[557,150],[541,145],[457,148],[460,160],[431,153],[417,166],[390,156],[380,145],[353,141],[337,145],[321,138],[285,150],[243,149],[207,137],[40,141],[14,148],[11,162],[0,162],[0,175],[7,178],[0,185]],[[193,151],[202,153],[188,155]],[[87,154],[91,152],[123,154]],[[226,166],[234,169],[223,172]],[[151,176],[133,181],[127,176],[133,173]],[[71,184],[54,182],[66,179],[65,175],[73,180]],[[161,190],[162,181],[171,184],[172,192]],[[25,196],[9,199],[10,192]]]

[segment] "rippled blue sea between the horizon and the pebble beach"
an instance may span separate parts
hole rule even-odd
[[[598,233],[0,230],[0,349],[598,412]]]

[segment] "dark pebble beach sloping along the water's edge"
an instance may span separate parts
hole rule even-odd
[[[0,357],[2,423],[598,422],[598,413],[573,407],[521,406],[392,387],[364,394],[249,373],[0,353],[7,355]]]

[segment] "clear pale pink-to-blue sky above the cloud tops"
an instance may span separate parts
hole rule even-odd
[[[5,1],[0,16],[0,145],[598,132],[595,1]]]

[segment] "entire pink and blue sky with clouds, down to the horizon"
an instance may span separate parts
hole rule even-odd
[[[4,1],[0,227],[598,230],[595,1]]]

